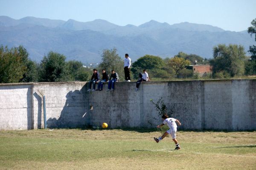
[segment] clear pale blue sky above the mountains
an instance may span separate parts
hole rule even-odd
[[[256,18],[256,0],[0,0],[0,16],[103,19],[119,26],[150,20],[170,25],[189,22],[243,31]]]

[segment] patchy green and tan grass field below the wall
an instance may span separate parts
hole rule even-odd
[[[0,130],[1,170],[256,170],[256,131]]]

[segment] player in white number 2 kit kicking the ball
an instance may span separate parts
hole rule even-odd
[[[160,128],[162,127],[163,125],[167,125],[170,129],[167,130],[165,133],[163,133],[163,136],[159,137],[159,138],[155,138],[154,137],[154,140],[158,143],[160,142],[160,140],[162,140],[163,138],[165,138],[168,134],[170,134],[172,136],[172,140],[173,142],[175,143],[176,147],[175,147],[175,150],[178,150],[180,149],[180,145],[176,139],[176,132],[177,132],[177,125],[176,125],[176,122],[177,124],[180,126],[181,123],[179,120],[177,119],[174,119],[174,118],[169,118],[169,116],[167,114],[164,114],[162,116],[162,120],[163,120],[163,123],[161,125],[158,125],[157,128]]]

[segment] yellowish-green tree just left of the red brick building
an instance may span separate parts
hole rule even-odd
[[[169,67],[173,68],[175,70],[176,75],[178,75],[181,70],[185,69],[187,65],[191,65],[191,63],[187,59],[173,57],[169,60],[168,65]]]

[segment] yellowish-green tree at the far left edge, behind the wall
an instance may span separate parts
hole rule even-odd
[[[0,46],[0,83],[19,82],[26,73],[26,65],[23,62],[26,56],[19,48],[8,49],[7,46]]]

